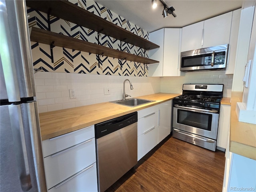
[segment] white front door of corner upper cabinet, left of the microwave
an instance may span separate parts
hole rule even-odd
[[[179,28],[164,29],[163,76],[180,75],[180,30]]]

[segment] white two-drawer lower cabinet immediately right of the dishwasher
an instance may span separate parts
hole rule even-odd
[[[158,105],[138,111],[138,160],[158,144]]]

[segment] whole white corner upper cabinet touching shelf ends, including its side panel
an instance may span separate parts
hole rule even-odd
[[[180,36],[179,28],[163,28],[149,34],[149,40],[160,46],[150,50],[150,59],[159,63],[148,65],[149,76],[180,76]]]

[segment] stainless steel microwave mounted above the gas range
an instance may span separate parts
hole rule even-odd
[[[228,44],[181,52],[180,70],[225,70]]]

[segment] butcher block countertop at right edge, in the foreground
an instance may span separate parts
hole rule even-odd
[[[232,92],[230,120],[230,152],[256,160],[256,125],[239,122],[236,103],[242,102],[243,92]]]

